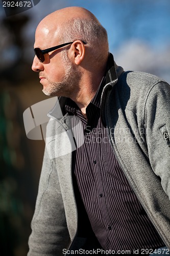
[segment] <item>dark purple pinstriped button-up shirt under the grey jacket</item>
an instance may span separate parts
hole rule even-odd
[[[162,247],[164,243],[119,166],[101,122],[104,84],[86,108],[87,119],[74,101],[68,99],[65,106],[83,126],[84,143],[72,153],[72,168],[91,227],[105,250],[133,253]]]

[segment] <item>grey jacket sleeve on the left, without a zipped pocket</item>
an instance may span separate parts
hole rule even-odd
[[[69,245],[69,234],[56,165],[46,148],[31,227],[28,256],[63,255],[62,250]]]

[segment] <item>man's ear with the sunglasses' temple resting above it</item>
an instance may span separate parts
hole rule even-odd
[[[74,52],[74,62],[76,65],[80,65],[85,56],[85,46],[82,41],[77,40],[71,46]]]

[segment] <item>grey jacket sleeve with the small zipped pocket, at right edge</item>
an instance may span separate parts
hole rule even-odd
[[[170,86],[154,84],[147,95],[144,124],[149,160],[155,174],[170,199]]]

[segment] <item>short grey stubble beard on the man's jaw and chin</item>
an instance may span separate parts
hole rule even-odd
[[[48,87],[42,90],[47,96],[70,97],[81,77],[80,72],[69,61],[66,51],[62,52],[62,60],[64,62],[65,75],[61,82],[51,82],[47,79]]]

